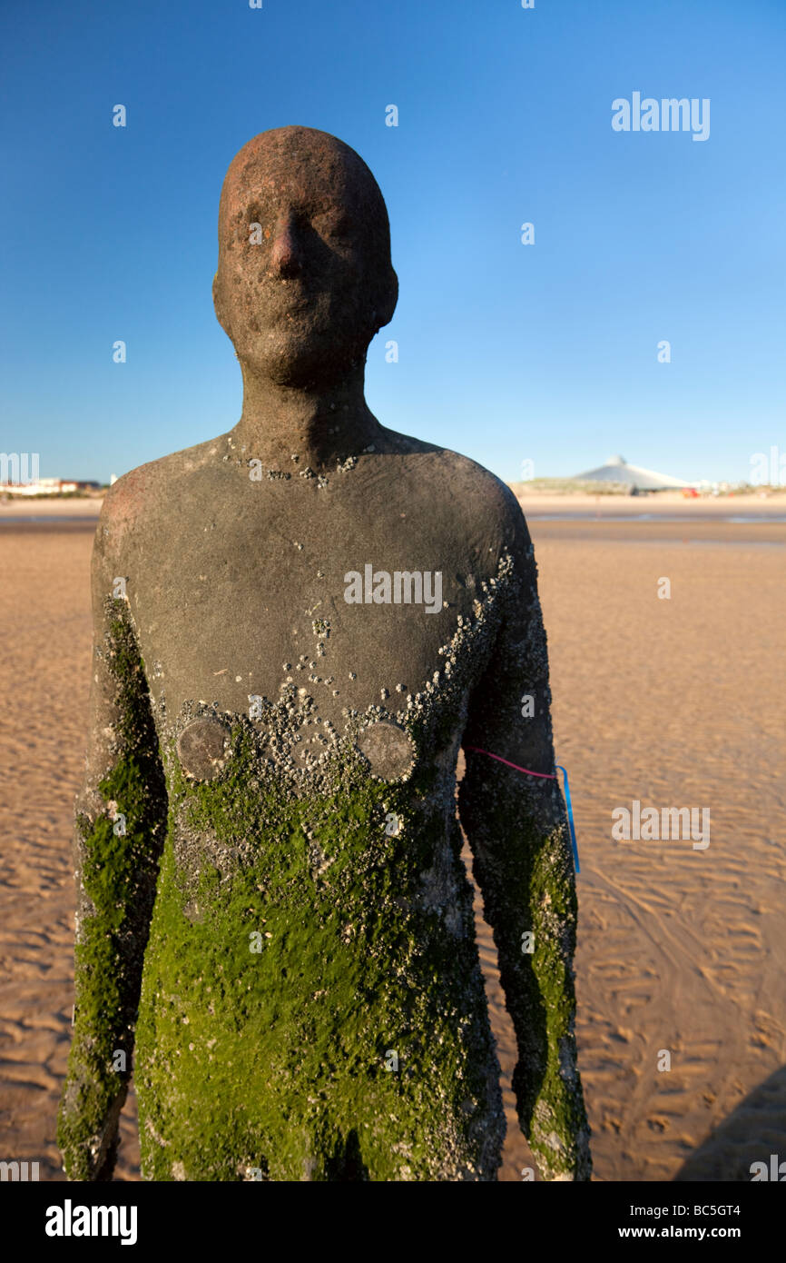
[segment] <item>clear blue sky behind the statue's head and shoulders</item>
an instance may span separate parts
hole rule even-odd
[[[507,480],[622,452],[736,481],[786,452],[783,0],[13,0],[0,44],[0,450],[42,475],[109,481],[235,424],[218,196],[293,123],[387,202],[384,424]],[[709,139],[613,131],[635,91],[709,99]]]

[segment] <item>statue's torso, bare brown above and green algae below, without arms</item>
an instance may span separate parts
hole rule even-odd
[[[361,1128],[375,1178],[491,1178],[454,770],[510,578],[496,480],[425,445],[327,485],[294,465],[252,480],[221,443],[169,457],[115,541],[169,797],[138,1031],[146,1172],[310,1178],[329,1120],[342,1144]],[[396,572],[421,576],[419,602],[411,578],[396,602]],[[226,1171],[183,1094],[221,1099]]]

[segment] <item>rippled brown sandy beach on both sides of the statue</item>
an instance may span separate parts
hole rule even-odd
[[[746,1181],[753,1161],[786,1157],[786,498],[580,499],[524,508],[582,860],[594,1178]],[[54,1129],[97,509],[0,504],[0,1157],[39,1161],[45,1180],[64,1178]],[[709,845],[614,840],[612,812],[633,801],[708,808]],[[478,938],[508,1116],[501,1178],[521,1180],[531,1162],[508,1087],[512,1032],[479,906]],[[130,1100],[117,1178],[139,1178],[138,1152]]]

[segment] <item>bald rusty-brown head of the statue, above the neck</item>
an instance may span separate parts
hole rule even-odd
[[[382,196],[358,155],[309,128],[262,133],[221,196],[216,312],[237,357],[285,385],[361,364],[395,308]]]

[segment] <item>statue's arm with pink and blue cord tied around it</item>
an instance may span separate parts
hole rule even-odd
[[[517,504],[512,532],[513,581],[503,594],[500,632],[463,736],[459,816],[516,1032],[513,1091],[521,1129],[544,1178],[589,1180],[589,1127],[574,1036],[577,895],[559,784],[469,749],[555,772],[537,571]]]

